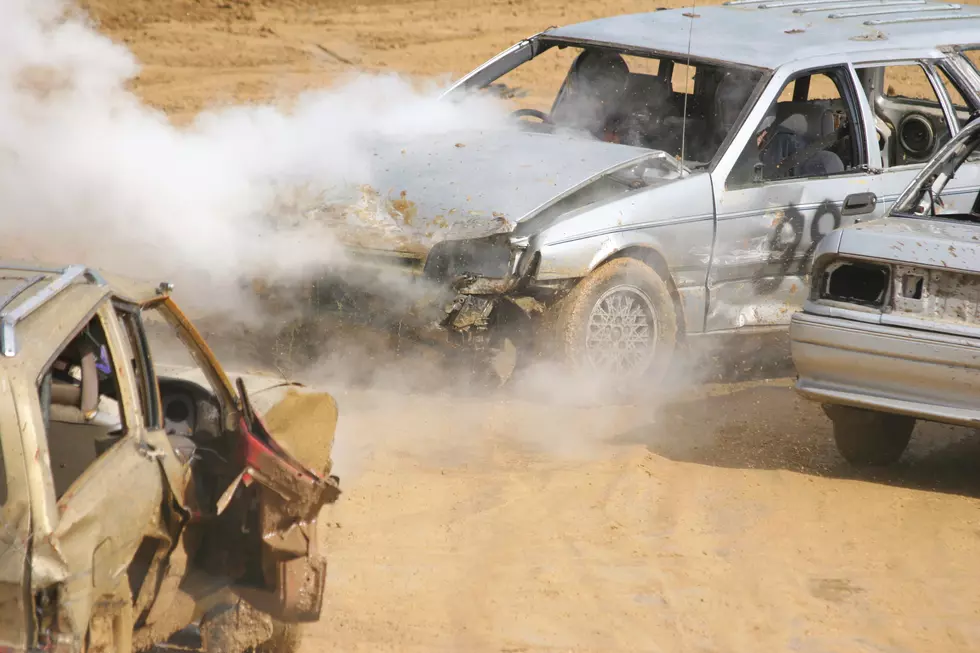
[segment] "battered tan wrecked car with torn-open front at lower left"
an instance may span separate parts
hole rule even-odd
[[[318,455],[277,440],[165,285],[106,279],[0,264],[0,650],[127,653],[191,625],[209,651],[295,649],[332,426],[303,434]],[[157,376],[154,321],[209,387]]]

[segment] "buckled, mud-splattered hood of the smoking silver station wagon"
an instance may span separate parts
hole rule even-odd
[[[347,245],[424,254],[441,240],[510,232],[597,177],[658,154],[516,130],[385,141],[374,148],[371,185],[310,215]]]

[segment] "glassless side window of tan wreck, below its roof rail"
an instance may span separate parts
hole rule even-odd
[[[41,376],[38,396],[59,499],[126,433],[116,354],[96,315]]]

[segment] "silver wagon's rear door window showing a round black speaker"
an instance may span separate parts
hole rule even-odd
[[[862,74],[885,168],[922,163],[950,138],[938,91],[921,65],[870,67]]]

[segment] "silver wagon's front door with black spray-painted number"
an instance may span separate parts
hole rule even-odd
[[[878,210],[846,65],[777,72],[712,172],[705,331],[789,324],[817,243]]]

